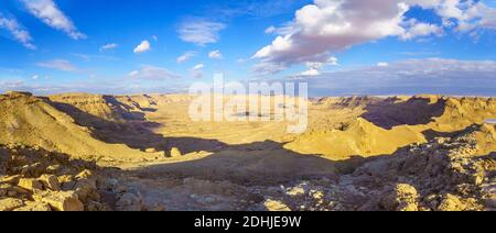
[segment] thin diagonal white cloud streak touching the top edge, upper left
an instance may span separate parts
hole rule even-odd
[[[73,40],[86,38],[53,0],[22,0],[22,2],[31,14],[48,26],[65,32]]]

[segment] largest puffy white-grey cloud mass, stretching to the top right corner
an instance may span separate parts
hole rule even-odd
[[[389,36],[413,40],[440,36],[445,24],[436,25],[408,19],[412,7],[434,10],[444,22],[454,23],[457,31],[474,26],[493,27],[494,9],[476,1],[461,0],[314,0],[295,12],[294,20],[283,29],[272,29],[278,35],[259,49],[256,70],[280,71],[308,62],[323,62],[331,55],[357,44]]]

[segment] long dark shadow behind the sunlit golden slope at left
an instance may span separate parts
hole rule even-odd
[[[86,113],[67,103],[53,101],[48,101],[48,103],[71,115],[76,124],[88,127],[93,137],[109,144],[125,144],[143,152],[153,148],[166,153],[173,147],[177,147],[182,153],[192,153],[200,151],[213,152],[226,146],[224,143],[215,140],[163,137],[163,135],[152,132],[153,129],[161,126],[161,124],[145,121],[144,116],[142,120],[115,122]]]

